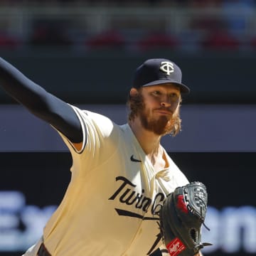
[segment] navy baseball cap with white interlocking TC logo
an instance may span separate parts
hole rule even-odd
[[[146,60],[137,68],[134,75],[134,88],[174,83],[181,89],[181,93],[189,93],[190,89],[181,82],[181,69],[171,60],[153,58]]]

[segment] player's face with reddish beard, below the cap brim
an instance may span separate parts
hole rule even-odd
[[[179,119],[181,92],[176,85],[142,88],[143,105],[138,116],[142,126],[155,134],[169,134]]]

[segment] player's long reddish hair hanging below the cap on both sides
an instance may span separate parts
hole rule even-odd
[[[137,95],[131,96],[129,94],[127,98],[127,107],[129,109],[129,122],[132,122],[135,119],[135,117],[137,117],[137,115],[139,114],[139,110],[143,110],[145,107],[144,97],[142,96],[142,88],[137,89],[137,91],[139,92]],[[177,113],[173,115],[171,119],[171,127],[166,132],[166,134],[176,136],[179,132],[181,132],[180,107],[181,105],[178,106],[178,109],[176,110]]]

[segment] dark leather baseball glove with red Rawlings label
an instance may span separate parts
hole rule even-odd
[[[204,246],[211,245],[201,242],[207,201],[206,186],[198,181],[178,187],[167,196],[159,219],[161,235],[171,256],[195,255]]]

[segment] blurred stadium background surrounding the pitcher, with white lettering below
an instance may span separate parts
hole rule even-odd
[[[183,71],[183,130],[163,144],[206,184],[205,255],[256,254],[255,0],[0,0],[0,56],[49,92],[126,122],[134,70]],[[41,236],[70,179],[58,134],[0,90],[0,255]],[[85,227],[86,228],[86,227]]]

